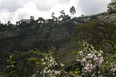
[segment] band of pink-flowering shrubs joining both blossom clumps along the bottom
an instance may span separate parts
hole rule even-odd
[[[35,58],[39,70],[32,77],[115,77],[116,63],[106,59],[102,51],[97,51],[86,42],[84,48],[77,53],[77,61],[81,63],[81,70],[64,71],[64,65],[58,63],[54,57],[53,50],[49,53],[41,53],[41,58]],[[37,52],[36,52],[37,54]],[[37,54],[37,55],[38,55]]]

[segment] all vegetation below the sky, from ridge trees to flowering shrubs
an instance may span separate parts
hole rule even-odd
[[[69,11],[76,13],[74,6]],[[0,72],[7,77],[115,77],[115,13],[60,14],[0,24]]]

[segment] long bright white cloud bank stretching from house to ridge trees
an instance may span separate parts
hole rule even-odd
[[[18,21],[20,19],[25,19],[25,18],[29,18],[30,16],[34,16],[35,19],[37,19],[38,17],[43,17],[45,19],[48,19],[51,17],[51,13],[52,12],[55,12],[55,15],[56,16],[59,16],[60,15],[60,11],[61,10],[66,10],[67,11],[67,3],[63,4],[61,2],[59,2],[58,0],[53,0],[54,2],[49,2],[50,5],[47,4],[47,2],[45,2],[45,6],[41,5],[41,7],[50,7],[50,9],[38,9],[38,6],[40,6],[39,4],[37,4],[36,0],[35,1],[30,1],[30,2],[27,2],[26,4],[23,5],[22,8],[18,8],[16,11],[15,11],[15,15],[13,17],[13,19],[11,20],[13,23],[15,23],[15,21]],[[56,4],[54,4],[56,3]],[[58,3],[58,4],[57,4]],[[43,4],[43,3],[41,3]],[[68,8],[68,11],[69,11],[69,8]]]

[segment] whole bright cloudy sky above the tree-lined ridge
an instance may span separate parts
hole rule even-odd
[[[107,11],[107,4],[110,0],[0,0],[0,21],[14,23],[21,19],[35,19],[43,17],[51,18],[51,13],[60,15],[64,10],[70,15],[70,7],[76,9],[75,16],[97,14]]]

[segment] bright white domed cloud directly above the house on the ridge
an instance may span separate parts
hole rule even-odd
[[[36,19],[44,16],[44,12],[39,11],[37,5],[31,1],[26,3],[22,8],[17,9],[11,21],[14,23],[20,19],[29,19],[30,16],[34,16]]]

